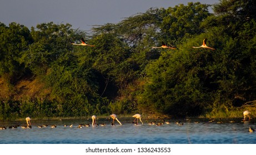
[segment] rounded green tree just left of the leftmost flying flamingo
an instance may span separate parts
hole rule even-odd
[[[72,40],[81,35],[70,24],[42,23],[31,29],[34,43],[24,51],[20,62],[35,75],[45,75],[51,63],[72,50]],[[76,36],[77,35],[77,36]]]

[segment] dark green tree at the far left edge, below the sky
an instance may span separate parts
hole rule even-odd
[[[17,23],[9,27],[1,23],[0,42],[0,75],[13,84],[26,73],[18,59],[32,42],[29,29]]]

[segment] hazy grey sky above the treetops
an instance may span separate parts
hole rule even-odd
[[[151,7],[168,8],[188,2],[214,4],[219,0],[0,0],[0,22],[23,24],[69,23],[72,28],[90,30],[92,25],[118,23]]]

